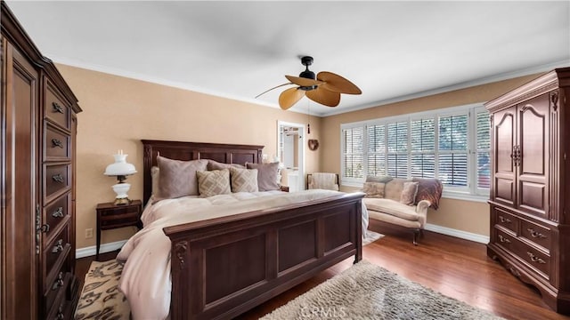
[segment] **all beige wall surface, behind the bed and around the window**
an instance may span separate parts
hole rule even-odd
[[[115,180],[102,174],[112,154],[123,149],[128,162],[142,170],[141,139],[264,145],[264,153],[277,151],[277,121],[305,124],[306,115],[277,108],[151,84],[122,76],[57,65],[77,95],[83,112],[77,132],[77,249],[95,244],[85,229],[95,229],[95,206],[112,201]],[[305,146],[306,172],[340,172],[340,124],[384,116],[454,107],[491,100],[535,76],[445,92],[324,118],[311,116],[310,139],[320,148]],[[365,92],[364,92],[365,94]],[[142,174],[128,177],[129,196],[142,198]],[[349,190],[350,188],[343,188]],[[429,210],[428,223],[489,235],[488,205],[442,199],[440,209]],[[104,231],[102,244],[125,240],[134,227]]]

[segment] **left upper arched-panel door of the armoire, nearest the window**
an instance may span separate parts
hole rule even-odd
[[[515,206],[516,194],[516,108],[493,114],[493,190],[497,203]]]

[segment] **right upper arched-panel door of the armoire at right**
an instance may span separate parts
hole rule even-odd
[[[517,208],[548,219],[549,94],[517,106]]]

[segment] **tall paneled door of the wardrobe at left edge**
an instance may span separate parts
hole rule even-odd
[[[4,14],[4,12],[3,12]],[[3,17],[4,19],[4,17]],[[3,26],[4,28],[4,26]],[[10,199],[4,215],[0,303],[6,319],[36,319],[37,316],[37,70],[3,38],[1,82],[3,94],[2,140],[6,153],[0,161],[4,182],[2,198]],[[10,119],[10,121],[6,121]],[[5,126],[5,133],[4,133]],[[16,257],[18,259],[16,259]],[[5,293],[5,294],[4,294]]]

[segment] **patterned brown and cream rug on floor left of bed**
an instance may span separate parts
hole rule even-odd
[[[131,308],[118,290],[123,266],[116,260],[93,261],[85,275],[85,284],[75,312],[76,320],[128,320]]]

